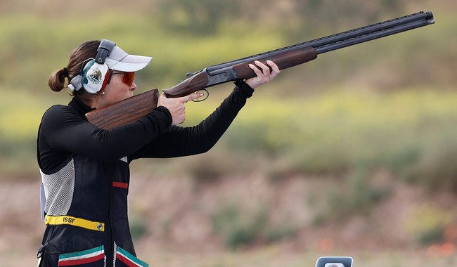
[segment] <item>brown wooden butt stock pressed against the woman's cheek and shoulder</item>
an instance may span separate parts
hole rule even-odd
[[[159,91],[152,89],[124,99],[115,105],[86,113],[86,119],[100,129],[109,130],[115,126],[135,122],[157,107]]]

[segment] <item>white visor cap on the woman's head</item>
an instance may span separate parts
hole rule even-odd
[[[146,67],[153,58],[148,56],[135,56],[125,53],[119,46],[112,48],[110,56],[106,58],[105,63],[111,70],[121,72],[136,72]]]

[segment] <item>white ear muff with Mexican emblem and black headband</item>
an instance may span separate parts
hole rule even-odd
[[[110,40],[103,39],[97,48],[96,58],[89,58],[82,65],[81,76],[82,86],[89,93],[98,93],[105,89],[106,84],[110,83],[110,67],[106,65],[105,60],[110,56],[112,48],[116,44]]]

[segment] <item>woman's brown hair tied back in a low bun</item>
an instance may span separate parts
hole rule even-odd
[[[86,41],[73,49],[72,53],[70,53],[70,59],[68,60],[66,67],[67,73],[65,73],[64,69],[53,72],[49,77],[49,88],[51,88],[52,91],[60,92],[67,87],[70,80],[80,74],[84,60],[97,56],[97,48],[99,45],[100,41]],[[65,81],[65,78],[68,80]],[[87,105],[90,105],[92,100],[96,97],[96,95],[87,93],[84,89],[72,91],[70,96],[77,96],[79,100],[82,100]]]

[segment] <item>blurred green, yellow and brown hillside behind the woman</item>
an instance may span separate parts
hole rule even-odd
[[[139,92],[209,65],[418,11],[435,25],[318,56],[257,89],[204,155],[131,164],[129,213],[151,266],[457,264],[455,1],[0,2],[0,259],[41,244],[37,129],[66,104],[49,74],[111,39],[153,56]],[[230,93],[188,103],[197,124]]]

